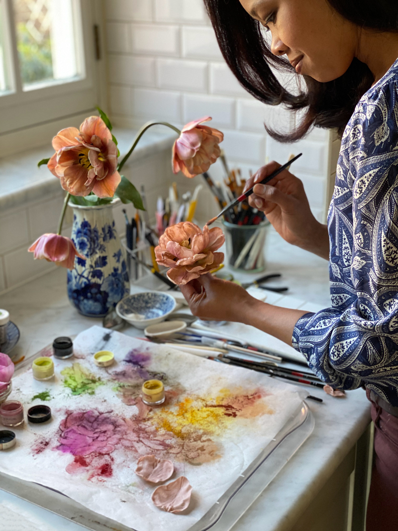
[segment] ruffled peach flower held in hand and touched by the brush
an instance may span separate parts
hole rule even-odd
[[[158,263],[166,265],[169,279],[177,285],[217,268],[224,260],[224,253],[215,253],[224,243],[224,235],[218,227],[202,230],[189,221],[167,227],[155,249]]]

